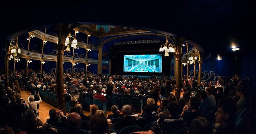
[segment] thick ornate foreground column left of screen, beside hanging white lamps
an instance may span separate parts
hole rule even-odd
[[[56,84],[57,84],[57,96],[58,96],[58,108],[66,115],[64,86],[63,86],[63,56],[64,50],[67,46],[64,46],[67,33],[67,24],[60,23],[58,29],[58,44],[57,49],[57,63],[56,63]]]

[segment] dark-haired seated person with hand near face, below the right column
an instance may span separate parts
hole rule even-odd
[[[189,127],[192,120],[196,119],[197,117],[204,117],[204,115],[198,111],[200,103],[201,100],[198,97],[191,97],[188,105],[184,106],[180,115],[183,117],[183,120],[185,120],[187,127]]]

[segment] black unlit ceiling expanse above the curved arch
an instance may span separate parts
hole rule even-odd
[[[168,3],[167,3],[168,2]],[[73,3],[1,4],[0,45],[4,40],[61,22],[82,22],[127,26],[137,29],[175,34],[203,46],[206,52],[229,54],[232,43],[241,51],[250,51],[256,35],[253,1],[104,1]],[[33,6],[31,6],[31,4]],[[6,9],[10,7],[9,9]],[[23,31],[24,30],[24,31]]]

